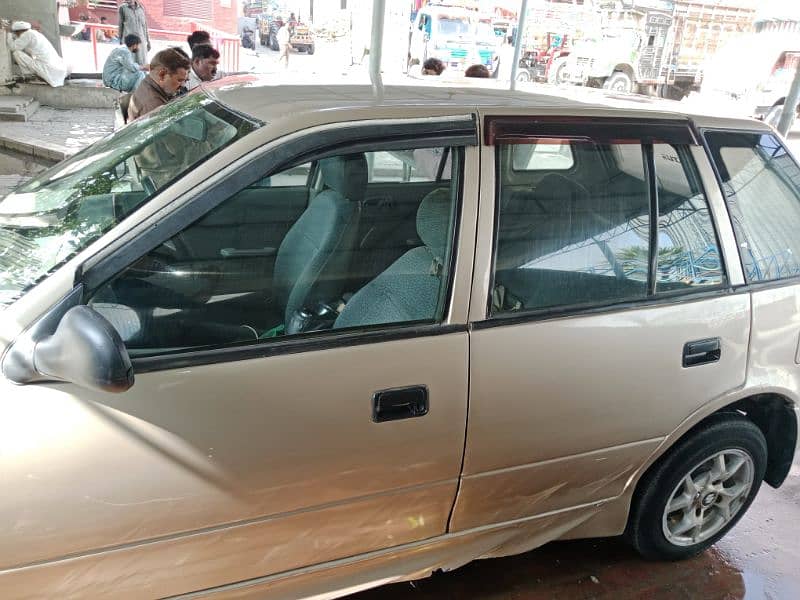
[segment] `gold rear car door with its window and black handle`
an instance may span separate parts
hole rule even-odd
[[[487,129],[497,163],[484,173],[499,181],[482,189],[479,226],[494,226],[494,245],[476,258],[451,524],[550,516],[542,543],[620,495],[669,432],[743,383],[750,301],[730,293],[724,222],[685,123]]]

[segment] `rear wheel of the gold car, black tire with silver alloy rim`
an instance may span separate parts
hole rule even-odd
[[[699,554],[744,515],[761,487],[766,465],[767,442],[756,425],[736,413],[712,417],[678,442],[639,482],[626,540],[650,560]],[[675,509],[668,511],[668,504]],[[700,515],[705,531],[697,526]]]

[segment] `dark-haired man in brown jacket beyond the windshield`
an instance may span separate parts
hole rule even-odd
[[[189,59],[175,48],[162,50],[150,63],[150,74],[136,88],[128,106],[128,122],[166,104],[186,82]]]

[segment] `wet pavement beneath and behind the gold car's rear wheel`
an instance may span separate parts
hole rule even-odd
[[[682,562],[648,562],[616,538],[553,542],[348,600],[800,598],[800,460],[779,489],[764,484],[716,546]]]

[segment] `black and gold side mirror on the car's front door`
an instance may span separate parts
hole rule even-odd
[[[40,379],[104,392],[124,392],[133,385],[131,359],[119,333],[84,305],[69,309],[53,335],[36,343],[33,369]]]

